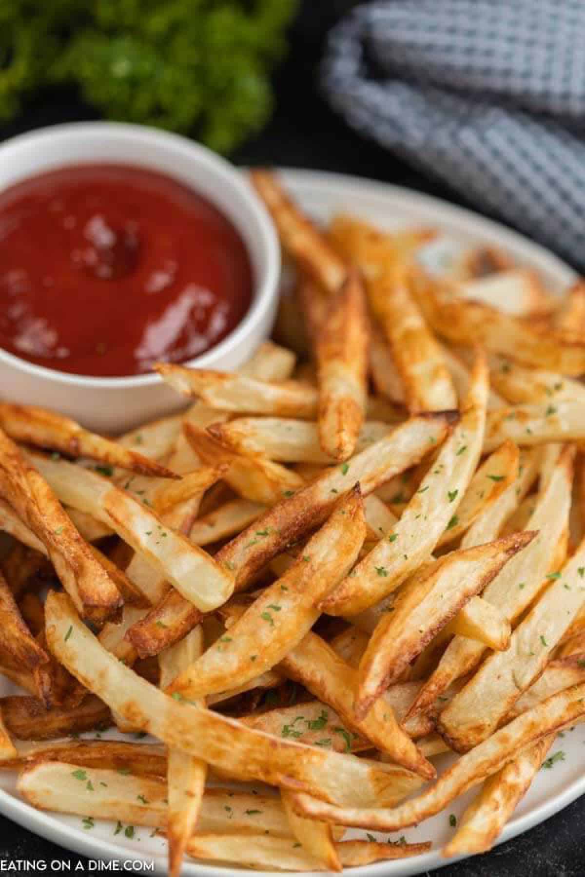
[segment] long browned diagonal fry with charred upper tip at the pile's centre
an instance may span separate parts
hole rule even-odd
[[[357,481],[363,496],[372,493],[394,474],[424,457],[431,447],[438,446],[452,421],[451,414],[432,414],[411,418],[397,426],[389,436],[357,454],[351,463],[333,467],[269,509],[220,549],[216,560],[235,574],[237,590],[246,588],[253,575],[283,548],[321,524],[334,503]],[[259,540],[257,530],[268,531],[268,536]],[[155,654],[153,649],[164,648],[184,636],[200,617],[189,602],[171,593],[128,636],[139,653]],[[161,628],[157,622],[166,627]]]

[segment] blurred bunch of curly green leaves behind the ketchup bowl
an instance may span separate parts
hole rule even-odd
[[[296,0],[0,0],[0,118],[75,82],[106,118],[230,152],[266,123]]]

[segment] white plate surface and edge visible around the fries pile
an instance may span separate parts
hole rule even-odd
[[[464,243],[488,242],[503,246],[519,262],[537,268],[550,289],[558,293],[566,289],[574,280],[574,272],[542,247],[532,244],[516,232],[510,232],[502,225],[436,198],[357,177],[297,170],[283,171],[282,175],[284,182],[303,208],[318,219],[325,220],[333,213],[345,210],[387,228],[396,228],[400,225],[432,225],[439,227],[450,239]],[[9,684],[0,683],[0,695],[8,693]],[[85,735],[89,739],[92,736]],[[103,735],[104,738],[109,736],[114,735]],[[583,743],[585,743],[583,725],[578,726],[574,731],[567,731],[564,738],[557,739],[551,752],[563,750],[566,753],[565,760],[558,760],[551,770],[542,770],[539,773],[507,824],[500,841],[513,838],[521,831],[527,831],[585,793]],[[150,838],[150,829],[137,829],[132,839],[125,838],[124,834],[114,837],[113,824],[96,821],[94,829],[84,831],[82,821],[78,817],[53,816],[33,809],[21,801],[14,790],[14,779],[13,774],[0,772],[0,812],[4,816],[9,816],[42,837],[89,858],[145,859],[154,862],[158,873],[166,872],[166,844],[160,838]],[[449,815],[454,813],[459,817],[473,795],[472,790],[446,812],[426,820],[417,829],[404,832],[409,841],[432,840],[436,849],[414,859],[399,859],[353,868],[350,873],[355,874],[356,877],[358,875],[407,877],[409,874],[424,873],[453,862],[453,859],[441,858],[439,847],[453,834],[453,829],[449,827]],[[183,867],[185,877],[196,877],[196,875],[225,877],[233,871],[233,867],[200,865],[192,862],[187,862]],[[263,873],[282,874],[282,872]]]

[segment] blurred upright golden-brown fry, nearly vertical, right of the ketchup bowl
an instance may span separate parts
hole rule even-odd
[[[315,342],[317,431],[329,457],[347,460],[355,451],[367,398],[367,313],[363,283],[356,270],[350,270],[327,304]]]

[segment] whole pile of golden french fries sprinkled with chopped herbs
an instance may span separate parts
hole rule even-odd
[[[489,246],[432,271],[432,229],[317,229],[252,180],[279,343],[161,364],[190,407],[117,441],[0,404],[0,766],[173,877],[415,856],[369,832],[470,788],[443,853],[488,850],[585,718],[585,286]]]

